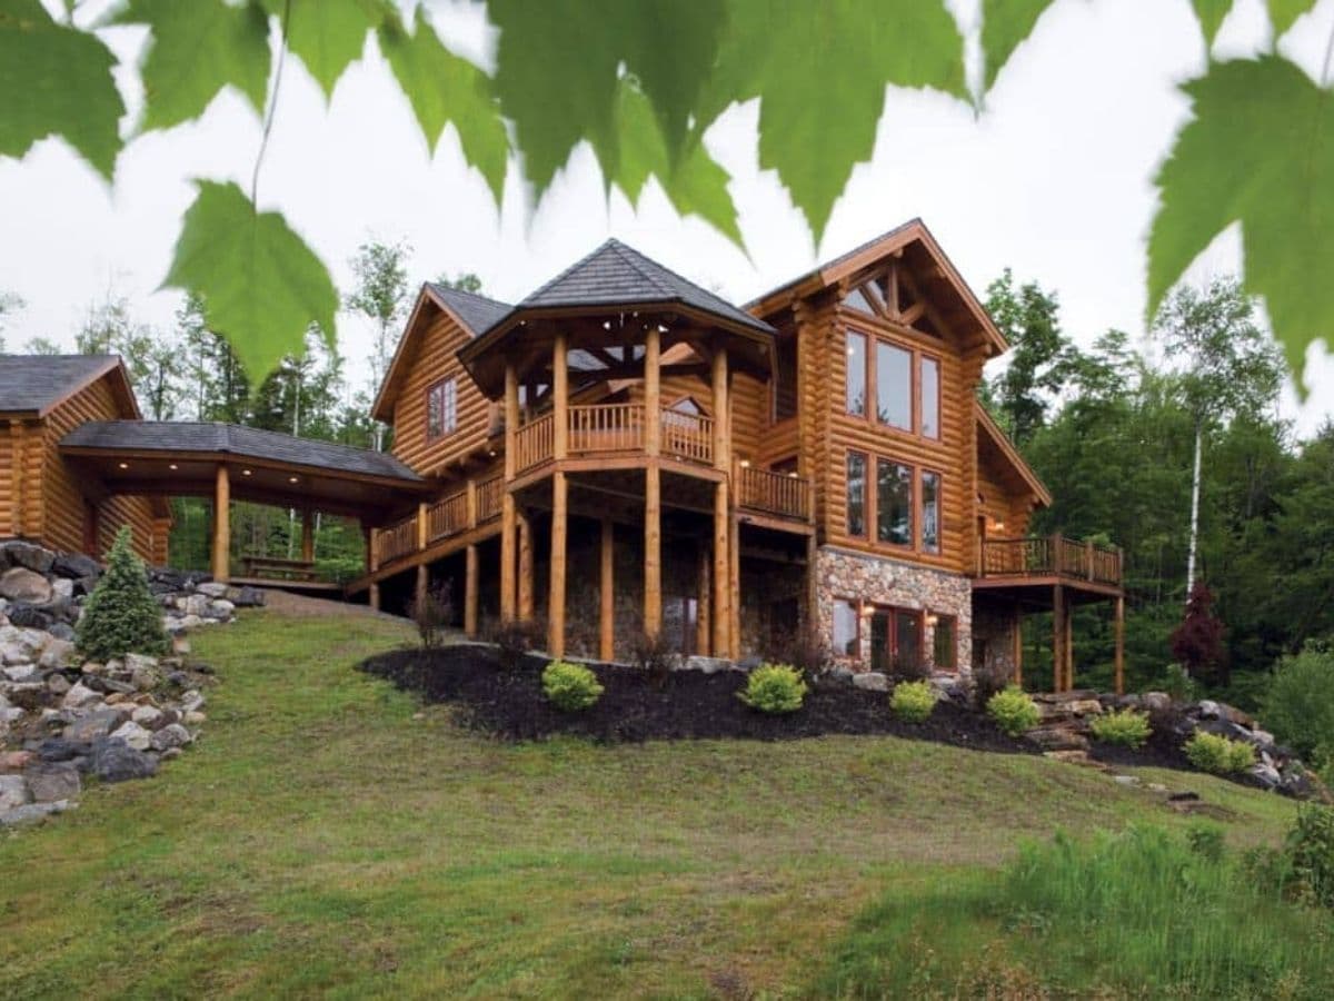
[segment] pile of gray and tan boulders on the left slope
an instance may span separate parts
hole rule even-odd
[[[205,575],[151,570],[172,637],[167,658],[84,661],[75,625],[101,569],[79,554],[0,545],[0,826],[73,805],[85,775],[147,778],[192,743],[204,722],[207,665],[187,666],[187,630],[229,622],[263,593]]]

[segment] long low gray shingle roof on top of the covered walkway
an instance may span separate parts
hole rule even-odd
[[[248,459],[308,466],[312,468],[423,482],[392,455],[332,442],[293,438],[279,431],[260,431],[237,424],[177,420],[93,420],[76,427],[60,442],[72,448],[109,451],[172,451],[236,455]]]

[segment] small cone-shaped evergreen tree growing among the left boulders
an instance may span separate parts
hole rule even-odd
[[[163,614],[144,565],[129,546],[129,526],[121,526],[107,554],[107,573],[88,595],[75,633],[79,651],[96,661],[128,653],[161,654],[167,650]]]

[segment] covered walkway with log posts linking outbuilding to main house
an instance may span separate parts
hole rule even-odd
[[[265,561],[273,566],[260,569],[271,578],[245,578],[284,586],[296,583],[296,570],[313,563],[316,511],[356,518],[368,538],[372,529],[416,510],[431,492],[427,480],[392,455],[236,424],[97,420],[65,435],[60,454],[79,470],[89,500],[212,498],[211,562],[217,581],[239,579],[229,557],[233,499],[301,511],[301,559],[289,570],[279,566],[281,561]],[[96,525],[88,529],[95,537]]]

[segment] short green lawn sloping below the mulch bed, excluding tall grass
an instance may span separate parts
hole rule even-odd
[[[195,638],[203,739],[0,837],[0,996],[798,996],[886,893],[1021,836],[1185,818],[1041,758],[892,738],[510,746],[352,670],[399,623]],[[1290,803],[1155,773],[1277,844]]]

